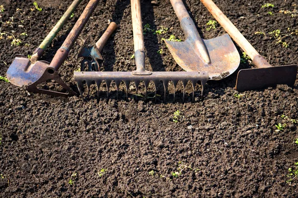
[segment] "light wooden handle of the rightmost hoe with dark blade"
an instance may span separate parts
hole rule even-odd
[[[213,17],[222,25],[230,37],[252,59],[254,65],[259,68],[271,67],[267,60],[261,56],[254,47],[245,39],[232,22],[224,15],[220,8],[212,0],[201,0]]]

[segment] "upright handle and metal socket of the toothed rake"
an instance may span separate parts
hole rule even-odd
[[[143,37],[142,14],[140,0],[131,0],[132,21],[134,32],[135,61],[137,70],[133,71],[133,75],[150,75],[145,69],[145,45]]]

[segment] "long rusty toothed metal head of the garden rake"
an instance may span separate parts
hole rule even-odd
[[[130,82],[133,81],[135,83],[136,92],[138,94],[138,89],[140,82],[143,81],[145,84],[145,98],[147,98],[147,90],[149,86],[149,82],[152,81],[155,87],[155,99],[156,99],[156,88],[158,83],[162,82],[164,87],[164,101],[166,99],[166,92],[168,88],[168,83],[171,81],[174,86],[174,101],[175,101],[175,93],[176,93],[176,86],[179,81],[183,84],[183,102],[185,98],[185,87],[190,81],[193,87],[193,97],[195,98],[195,85],[198,81],[201,81],[202,85],[202,93],[206,82],[208,81],[208,73],[207,72],[151,72],[150,75],[134,75],[132,72],[74,72],[74,80],[77,83],[77,88],[81,97],[83,98],[84,92],[84,82],[87,85],[88,90],[88,97],[90,92],[90,86],[92,84],[96,84],[97,86],[97,98],[99,99],[99,87],[101,83],[104,81],[106,83],[107,88],[107,97],[109,94],[109,88],[112,82],[116,85],[117,90],[117,98],[119,92],[119,86],[123,81],[126,87],[126,98],[128,98],[128,89]]]

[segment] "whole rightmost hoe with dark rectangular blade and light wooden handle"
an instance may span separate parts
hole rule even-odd
[[[297,65],[270,65],[267,60],[252,47],[212,0],[201,1],[257,67],[252,69],[241,69],[238,72],[236,82],[237,91],[244,92],[248,90],[258,90],[279,84],[286,84],[289,86],[295,84]]]

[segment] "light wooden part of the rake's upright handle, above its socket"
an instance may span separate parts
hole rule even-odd
[[[144,51],[144,37],[143,37],[143,25],[141,15],[141,3],[140,0],[131,0],[132,6],[132,21],[134,31],[134,46],[135,52],[137,50]]]

